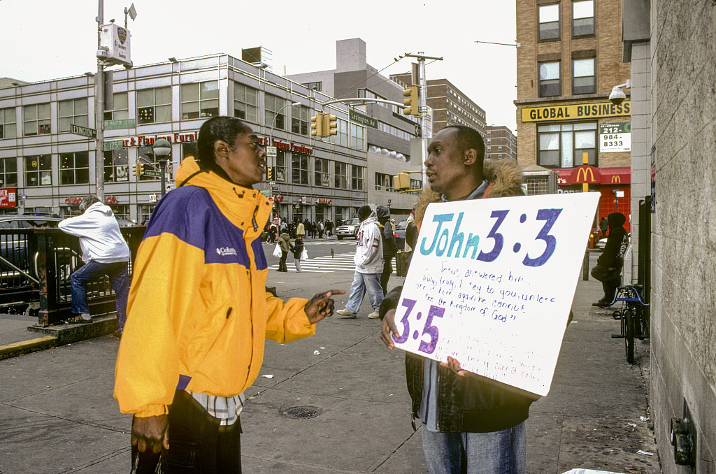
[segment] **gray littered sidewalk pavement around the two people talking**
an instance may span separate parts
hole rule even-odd
[[[321,289],[352,281],[347,272],[325,275]],[[268,284],[284,298],[306,294],[305,279],[292,274],[271,272]],[[659,473],[649,341],[637,342],[629,365],[623,340],[611,339],[619,321],[591,306],[599,296],[601,284],[579,281],[551,392],[526,424],[528,473]],[[404,353],[387,351],[370,311],[364,301],[357,319],[334,315],[314,337],[267,342],[241,414],[244,473],[427,473],[420,430],[410,426]],[[0,316],[0,345],[42,336],[22,318]],[[72,328],[58,332],[90,331],[64,326]],[[117,346],[105,335],[0,360],[0,474],[128,472],[131,417],[112,398]]]

